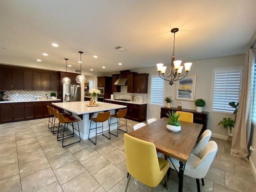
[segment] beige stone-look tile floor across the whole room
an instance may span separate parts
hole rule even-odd
[[[128,120],[128,132],[137,122]],[[62,148],[47,128],[48,118],[0,124],[1,192],[122,192],[126,186],[123,133],[118,137],[97,137]],[[230,142],[212,138],[218,144],[202,192],[255,192],[248,162],[230,156]],[[168,192],[178,191],[176,172],[171,171]],[[128,192],[150,188],[131,179]],[[166,192],[163,181],[156,192]],[[196,192],[196,180],[184,177],[184,192]]]

